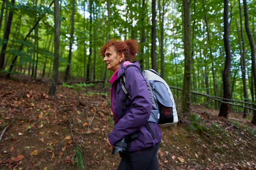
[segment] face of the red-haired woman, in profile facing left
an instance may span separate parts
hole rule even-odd
[[[108,70],[115,72],[121,65],[120,61],[122,61],[122,55],[117,54],[113,46],[111,46],[105,51],[103,61],[106,62]]]

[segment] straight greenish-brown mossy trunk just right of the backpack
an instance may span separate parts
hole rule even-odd
[[[189,0],[183,0],[184,12],[184,80],[182,93],[182,112],[190,112],[190,81],[191,81],[191,20]]]

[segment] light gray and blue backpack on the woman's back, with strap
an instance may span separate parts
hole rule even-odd
[[[176,105],[166,81],[153,69],[142,71],[142,75],[146,81],[153,106],[148,122],[157,123],[159,127],[169,127],[176,124],[178,122]],[[120,83],[125,95],[131,99],[125,88],[124,75],[121,77]],[[149,127],[148,123],[146,126]],[[151,131],[149,128],[148,130]]]

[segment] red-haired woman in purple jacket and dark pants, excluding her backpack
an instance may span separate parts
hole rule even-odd
[[[138,52],[138,43],[135,40],[123,42],[112,39],[100,50],[107,69],[114,72],[109,82],[112,84],[111,108],[115,121],[107,144],[113,150],[116,142],[125,137],[128,140],[127,151],[119,152],[122,159],[118,170],[158,170],[157,150],[162,134],[156,123],[148,122],[154,137],[145,125],[152,103],[139,62],[131,62]],[[125,88],[131,99],[127,97],[123,100],[125,93],[120,83],[123,75],[126,79]],[[133,134],[136,134],[137,138],[132,140]]]

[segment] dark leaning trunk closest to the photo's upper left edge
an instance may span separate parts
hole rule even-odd
[[[14,3],[15,3],[15,0],[12,0],[13,5],[14,5]],[[5,34],[3,35],[3,39],[6,40],[6,42],[3,43],[1,54],[0,54],[0,70],[4,69],[4,57],[5,57],[5,52],[6,52],[6,48],[7,48],[7,44],[8,44],[8,40],[9,40],[9,34],[11,31],[12,15],[13,15],[12,11],[10,10],[8,21],[6,24],[6,31],[5,31]]]

